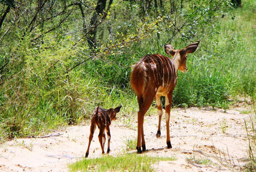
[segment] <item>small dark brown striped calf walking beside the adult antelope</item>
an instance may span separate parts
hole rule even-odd
[[[100,130],[98,134],[98,141],[100,141],[100,146],[102,147],[102,154],[104,154],[104,145],[106,141],[105,137],[105,130],[106,134],[108,135],[108,150],[106,153],[110,153],[110,124],[112,120],[116,120],[116,113],[120,111],[122,106],[118,106],[117,108],[111,108],[111,109],[103,109],[98,106],[94,110],[94,113],[92,114],[92,120],[90,123],[90,136],[89,136],[89,144],[86,151],[86,157],[89,155],[89,148],[90,148],[90,142],[92,141],[92,138],[94,137],[94,131],[96,130],[96,126],[98,126],[98,129]]]

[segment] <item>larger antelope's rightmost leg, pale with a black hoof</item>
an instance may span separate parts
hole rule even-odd
[[[170,144],[170,108],[172,107],[172,93],[169,93],[166,96],[166,143],[167,148],[172,148],[172,144]]]

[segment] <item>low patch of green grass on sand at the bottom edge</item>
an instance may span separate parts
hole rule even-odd
[[[155,171],[153,168],[155,163],[173,160],[177,159],[137,154],[124,154],[117,157],[105,155],[100,158],[85,158],[69,165],[69,168],[70,171]]]

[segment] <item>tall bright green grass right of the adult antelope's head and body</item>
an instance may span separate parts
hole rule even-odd
[[[199,49],[189,55],[188,73],[179,74],[174,103],[225,108],[234,95],[255,102],[255,23],[252,1],[218,15],[215,29],[204,33]]]

